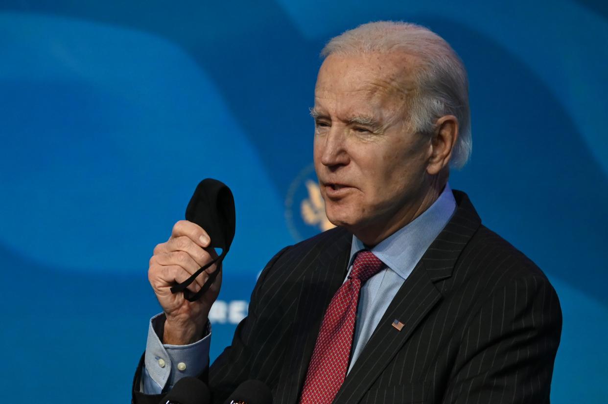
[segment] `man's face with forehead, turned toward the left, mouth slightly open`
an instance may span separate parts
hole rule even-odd
[[[424,194],[430,140],[407,123],[413,62],[330,55],[317,77],[314,165],[325,211],[364,242],[406,224]]]

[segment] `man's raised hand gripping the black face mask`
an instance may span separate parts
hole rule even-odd
[[[184,299],[184,293],[181,292],[171,293],[171,286],[190,278],[203,265],[218,256],[209,244],[209,235],[202,227],[193,222],[179,221],[173,226],[168,241],[154,248],[154,255],[150,258],[148,280],[167,316],[163,335],[165,344],[185,345],[204,337],[209,310],[218,298],[222,282],[221,272],[197,301]],[[216,265],[211,265],[196,277],[188,289],[193,293],[198,292],[209,278],[209,274],[215,270]]]

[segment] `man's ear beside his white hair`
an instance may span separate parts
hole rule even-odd
[[[430,175],[440,173],[452,157],[452,149],[458,139],[458,119],[445,115],[437,120],[435,132],[430,142],[430,156],[426,172]]]

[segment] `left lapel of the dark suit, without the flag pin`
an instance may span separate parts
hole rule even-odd
[[[293,334],[286,350],[279,390],[275,394],[282,403],[298,400],[323,315],[346,276],[351,240],[352,235],[342,230],[331,245],[322,247],[316,269],[306,274],[302,281]]]

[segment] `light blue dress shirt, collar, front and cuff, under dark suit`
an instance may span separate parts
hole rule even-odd
[[[454,195],[449,185],[446,185],[435,203],[426,211],[370,249],[380,261],[384,262],[385,268],[368,279],[361,287],[353,337],[353,352],[348,366],[349,372],[397,291],[412,273],[433,240],[446,226],[455,208]],[[353,236],[348,274],[353,269],[354,256],[363,249],[365,249],[365,245]],[[211,340],[209,324],[207,326],[208,334],[202,340],[190,345],[176,346],[161,343],[154,330],[156,321],[158,321],[158,316],[150,320],[148,327],[145,368],[142,377],[142,388],[146,394],[159,394],[165,386],[171,388],[179,378],[199,374],[209,362]]]

